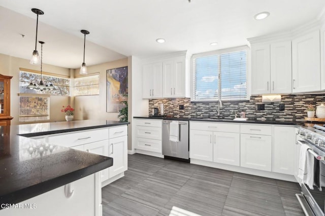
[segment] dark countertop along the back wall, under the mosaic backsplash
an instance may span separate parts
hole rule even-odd
[[[138,116],[133,117],[138,119],[163,119],[163,120],[178,120],[178,121],[205,121],[205,122],[227,122],[227,123],[248,123],[248,124],[276,124],[276,125],[303,125],[304,121],[283,121],[268,118],[248,118],[247,121],[234,121],[233,119],[217,119],[217,118],[175,118],[167,116]]]

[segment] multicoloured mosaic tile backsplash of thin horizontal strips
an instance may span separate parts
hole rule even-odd
[[[189,98],[151,99],[149,100],[149,115],[157,107],[160,113],[160,103],[164,103],[164,115],[175,118],[210,118],[218,117],[218,101],[191,102]],[[307,117],[307,105],[325,103],[325,94],[281,95],[281,102],[268,102],[265,110],[257,110],[256,103],[262,103],[262,95],[251,96],[245,101],[223,101],[219,109],[219,117],[235,118],[235,112],[244,111],[246,118],[272,119],[274,121],[303,121]],[[284,103],[284,111],[279,110],[279,104]],[[184,105],[184,110],[179,110]],[[239,115],[237,115],[239,117]]]

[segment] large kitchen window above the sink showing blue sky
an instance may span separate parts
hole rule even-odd
[[[246,100],[246,49],[194,55],[191,100]]]

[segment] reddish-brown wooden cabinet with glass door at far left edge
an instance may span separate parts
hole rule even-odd
[[[0,74],[0,126],[10,125],[10,76]]]

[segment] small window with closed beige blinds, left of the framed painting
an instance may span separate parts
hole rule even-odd
[[[75,95],[100,94],[100,74],[75,78]]]

